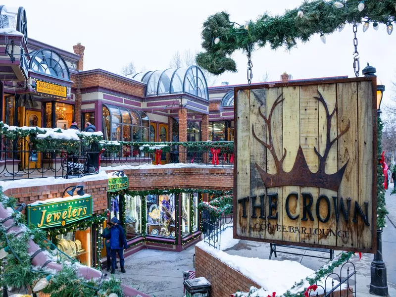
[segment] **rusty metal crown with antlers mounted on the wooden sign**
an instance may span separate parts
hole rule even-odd
[[[315,153],[319,157],[319,169],[315,173],[312,173],[309,170],[309,167],[308,167],[308,164],[306,163],[305,156],[304,156],[304,153],[302,152],[301,146],[299,146],[299,148],[298,148],[296,161],[293,165],[292,171],[290,171],[290,172],[285,172],[283,170],[283,161],[284,161],[284,159],[286,157],[286,153],[287,153],[286,148],[284,148],[283,156],[280,159],[276,155],[274,145],[272,142],[271,117],[272,117],[272,113],[273,113],[275,107],[284,100],[284,99],[282,99],[283,94],[281,94],[275,100],[274,104],[271,107],[271,111],[269,113],[268,118],[262,114],[262,112],[259,108],[258,112],[259,112],[260,116],[265,120],[265,123],[267,125],[269,144],[260,140],[256,136],[256,134],[254,133],[253,125],[251,127],[252,134],[253,134],[253,137],[259,143],[261,143],[264,147],[269,149],[272,156],[274,157],[275,167],[276,167],[276,174],[269,174],[256,163],[257,170],[261,176],[261,179],[263,180],[263,182],[265,184],[265,187],[271,188],[271,187],[281,187],[281,186],[306,186],[306,187],[317,187],[317,188],[324,188],[324,189],[329,189],[329,190],[333,190],[333,191],[338,191],[338,188],[340,187],[340,184],[343,179],[345,169],[347,167],[349,160],[336,173],[326,174],[326,172],[325,172],[326,159],[330,152],[330,148],[334,145],[334,143],[337,140],[339,140],[345,133],[347,133],[347,131],[350,127],[350,121],[348,120],[347,127],[343,131],[341,131],[337,135],[336,138],[334,138],[333,140],[330,140],[331,120],[337,110],[337,103],[334,107],[333,112],[330,113],[327,103],[326,103],[325,99],[323,99],[323,97],[322,97],[322,94],[320,94],[320,92],[318,92],[318,94],[319,94],[319,97],[313,97],[313,98],[320,101],[326,110],[327,137],[326,137],[326,148],[325,148],[323,155],[321,155],[318,152],[318,150],[316,148],[314,148]]]

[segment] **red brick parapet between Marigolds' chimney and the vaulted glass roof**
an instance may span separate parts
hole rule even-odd
[[[94,73],[80,76],[81,88],[103,87],[109,90],[123,92],[128,95],[144,97],[144,86],[129,83],[121,79]]]

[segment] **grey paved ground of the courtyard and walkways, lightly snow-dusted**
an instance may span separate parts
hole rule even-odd
[[[396,196],[390,196],[390,191],[387,191],[386,199],[390,214],[387,228],[383,233],[383,254],[387,265],[389,296],[396,297]],[[240,241],[225,251],[229,254],[268,259],[269,250],[269,244]],[[182,272],[194,270],[194,252],[194,247],[182,252],[141,250],[126,258],[127,273],[121,273],[118,269],[116,276],[125,284],[155,297],[183,297]],[[327,262],[325,259],[310,257],[309,252],[304,256],[278,254],[277,258],[273,256],[272,259],[297,261],[313,270],[317,270]],[[358,257],[352,260],[356,267],[357,297],[373,296],[368,293],[372,259],[372,254],[363,254],[360,261]]]

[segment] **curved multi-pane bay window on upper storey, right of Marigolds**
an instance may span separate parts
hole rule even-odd
[[[143,111],[103,104],[103,135],[112,141],[150,141],[150,121]]]

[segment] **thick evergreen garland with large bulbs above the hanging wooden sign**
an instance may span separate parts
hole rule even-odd
[[[345,7],[337,8],[334,0],[303,1],[283,15],[267,13],[244,26],[235,26],[227,12],[211,15],[203,23],[202,48],[196,60],[214,75],[225,71],[236,72],[232,54],[238,49],[261,48],[269,44],[271,49],[297,47],[297,40],[309,41],[314,34],[331,34],[345,23],[360,23],[362,18],[371,22],[389,25],[395,22],[395,0],[348,0],[341,1]],[[360,2],[365,7],[357,9]],[[300,13],[302,12],[302,14]]]

